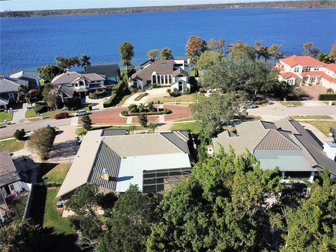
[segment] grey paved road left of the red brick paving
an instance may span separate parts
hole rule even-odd
[[[50,124],[50,126],[59,127],[59,126],[70,125],[70,123],[71,123],[71,118],[64,118],[61,120],[44,119],[44,120],[31,121],[29,123],[15,123],[13,125],[7,125],[6,127],[1,128],[0,136],[6,137],[6,136],[13,135],[15,130],[25,129],[25,131],[27,132],[27,131],[36,130],[40,127],[45,127],[48,124]]]

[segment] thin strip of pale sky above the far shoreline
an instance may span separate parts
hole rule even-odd
[[[186,5],[202,3],[237,3],[251,1],[274,1],[274,0],[111,0],[111,1],[31,1],[31,0],[11,0],[1,1],[1,10],[59,10],[73,8],[116,8],[116,7],[134,7],[134,6],[167,6],[167,5]]]

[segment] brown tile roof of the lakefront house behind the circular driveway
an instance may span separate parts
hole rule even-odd
[[[156,60],[148,62],[143,69],[133,73],[131,78],[139,78],[141,80],[151,80],[152,73],[156,71],[158,75],[172,74],[174,69],[174,59]]]

